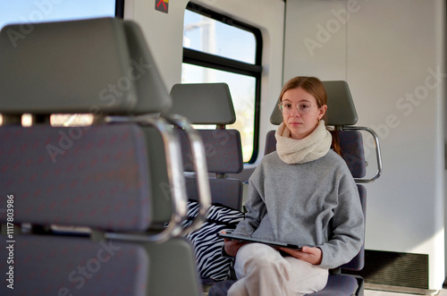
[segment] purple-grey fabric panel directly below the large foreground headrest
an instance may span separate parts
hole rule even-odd
[[[14,222],[146,231],[148,148],[141,128],[84,128],[0,128],[0,187],[15,197]],[[6,205],[5,195],[0,204]]]

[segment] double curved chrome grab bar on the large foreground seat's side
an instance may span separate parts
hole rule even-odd
[[[159,117],[153,114],[145,114],[133,117],[127,116],[107,116],[106,123],[139,123],[155,127],[160,132],[164,141],[164,154],[166,171],[171,192],[171,202],[173,213],[167,226],[160,233],[105,233],[106,239],[120,239],[127,241],[149,241],[164,242],[174,236],[190,233],[197,229],[205,220],[208,207],[211,204],[211,193],[207,179],[207,161],[203,141],[186,118],[180,115],[166,115]],[[183,129],[190,141],[193,165],[197,173],[198,181],[198,217],[183,229],[181,223],[187,215],[187,194],[185,188],[185,178],[183,174],[183,162],[181,158],[180,141],[174,133],[173,126]]]

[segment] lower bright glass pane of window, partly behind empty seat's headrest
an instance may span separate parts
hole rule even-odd
[[[232,95],[234,112],[236,113],[236,122],[227,125],[227,127],[240,131],[243,159],[244,162],[248,162],[253,155],[256,79],[251,76],[183,63],[181,83],[203,82],[225,82],[228,84]],[[197,128],[203,129],[204,126]]]

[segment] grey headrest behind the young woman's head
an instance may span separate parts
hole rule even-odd
[[[342,80],[322,82],[327,94],[327,125],[343,126],[356,124],[358,117],[356,107],[350,96],[348,83]],[[274,111],[270,116],[270,123],[276,125],[283,123],[283,114],[281,114],[278,106],[274,106]]]

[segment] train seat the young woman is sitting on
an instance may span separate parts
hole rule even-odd
[[[380,147],[375,132],[365,128],[352,126],[357,123],[357,112],[350,95],[350,89],[345,81],[323,81],[328,96],[328,110],[326,113],[326,123],[333,126],[333,135],[339,137],[342,149],[342,157],[347,162],[354,180],[358,183],[358,193],[363,214],[366,216],[367,191],[365,186],[359,183],[374,182],[381,173],[382,163],[380,157]],[[274,106],[274,111],[270,117],[271,123],[279,125],[283,122],[283,115],[279,108]],[[361,130],[371,133],[375,139],[377,168],[378,172],[372,179],[363,179],[366,175],[366,160],[363,148]],[[274,131],[268,131],[266,135],[265,154],[276,150],[276,140]],[[349,275],[349,270],[360,270],[365,264],[365,248],[362,246],[358,255],[349,263],[330,271],[328,283],[320,292],[309,295],[363,295],[364,280],[357,275]],[[343,271],[343,274],[342,274]],[[346,273],[344,273],[346,271]],[[226,295],[233,281],[226,281],[215,284],[208,295]]]

